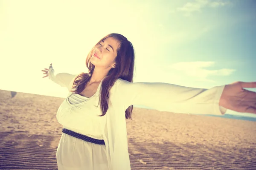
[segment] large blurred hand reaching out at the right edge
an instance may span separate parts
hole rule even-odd
[[[225,85],[219,105],[237,112],[256,114],[256,93],[243,88],[256,88],[256,82],[233,82]]]

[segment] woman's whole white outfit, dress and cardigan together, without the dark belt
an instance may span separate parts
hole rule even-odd
[[[49,69],[49,79],[69,91],[77,75],[54,75],[53,68]],[[59,106],[56,118],[64,128],[104,139],[105,145],[63,133],[56,153],[58,170],[131,170],[125,119],[125,110],[130,105],[145,105],[174,113],[223,115],[227,111],[219,106],[225,85],[203,89],[161,82],[133,83],[119,78],[109,91],[108,111],[100,117],[98,103],[102,81],[90,98],[76,95],[73,97],[79,99],[75,102],[70,98],[70,92]]]

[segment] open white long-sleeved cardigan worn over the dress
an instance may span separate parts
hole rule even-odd
[[[54,69],[50,68],[48,75],[53,82],[71,90],[74,78],[78,74],[58,73],[54,75]],[[102,81],[96,94],[90,97],[92,104],[99,102],[101,84]],[[190,88],[161,82],[128,82],[117,79],[109,91],[109,108],[102,117],[101,125],[109,169],[131,170],[125,119],[125,110],[130,105],[145,105],[158,111],[175,113],[223,115],[227,109],[219,106],[219,100],[224,87],[225,85],[210,89]],[[60,105],[56,116],[58,122],[64,126],[69,126],[65,125],[68,121],[65,122],[64,119],[70,119],[73,116],[67,112],[70,111],[67,106],[66,99]],[[79,109],[82,111],[81,108]],[[98,109],[100,111],[100,105]]]

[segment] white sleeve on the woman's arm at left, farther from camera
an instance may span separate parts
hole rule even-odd
[[[49,68],[48,70],[48,77],[53,82],[57,83],[61,87],[65,87],[68,90],[71,89],[71,81],[76,77],[74,74],[68,74],[68,73],[58,73],[55,75],[54,69]]]

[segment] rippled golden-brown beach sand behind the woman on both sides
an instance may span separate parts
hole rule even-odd
[[[57,170],[64,98],[0,90],[0,169]],[[256,122],[134,108],[132,170],[256,170]]]

